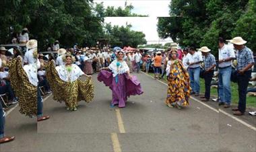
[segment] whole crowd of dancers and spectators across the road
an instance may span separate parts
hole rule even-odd
[[[191,95],[200,95],[200,77],[205,81],[205,93],[200,97],[201,101],[210,101],[210,89],[216,71],[219,106],[230,108],[230,81],[236,81],[239,101],[237,108],[232,108],[232,111],[234,115],[241,116],[245,113],[247,92],[255,91],[255,88],[247,90],[255,61],[253,52],[245,46],[243,38],[236,37],[229,42],[233,47],[219,38],[219,56],[216,60],[207,46],[197,51],[192,46],[181,49],[174,43],[166,51],[148,53],[119,47],[81,48],[78,44],[65,49],[59,48],[59,41],[55,41],[53,47],[49,48],[57,51],[55,59],[52,54],[38,54],[37,41],[28,40],[24,56],[17,48],[13,48],[10,58],[5,56],[7,49],[0,48],[0,93],[8,95],[8,104],[19,102],[20,112],[26,116],[36,116],[39,122],[50,118],[42,114],[44,93],[53,93],[54,100],[65,102],[67,110],[76,111],[79,101],[92,102],[94,83],[90,75],[98,73],[98,81],[102,81],[113,93],[110,106],[125,108],[129,96],[143,93],[137,77],[131,73],[141,70],[149,73],[152,69],[154,79],[166,77],[168,81],[166,106],[181,109],[189,105]],[[85,81],[79,79],[82,75],[87,77]],[[0,116],[0,143],[12,141],[15,137],[5,137],[3,132],[5,111],[2,104]]]

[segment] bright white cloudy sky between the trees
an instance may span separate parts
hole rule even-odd
[[[103,2],[104,7],[124,7],[125,0],[94,0],[96,3]],[[170,0],[127,0],[127,5],[133,5],[134,9],[132,13],[138,13],[141,15],[149,15],[149,17],[106,17],[105,23],[111,23],[112,25],[125,26],[125,24],[131,24],[132,30],[140,31],[146,34],[146,40],[148,44],[164,44],[171,42],[170,38],[160,40],[157,32],[157,17],[168,17],[168,5]]]

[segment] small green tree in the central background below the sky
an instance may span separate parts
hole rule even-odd
[[[108,39],[111,46],[131,46],[137,48],[139,44],[146,44],[145,34],[131,30],[131,25],[127,26],[104,26],[104,38]]]

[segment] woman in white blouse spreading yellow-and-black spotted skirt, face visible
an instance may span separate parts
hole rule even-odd
[[[77,110],[77,103],[81,100],[91,102],[94,98],[94,85],[92,77],[86,75],[77,65],[72,64],[71,54],[65,54],[65,65],[55,68],[53,61],[46,65],[46,79],[53,89],[53,99],[65,102],[67,110]],[[88,79],[78,79],[86,75]]]

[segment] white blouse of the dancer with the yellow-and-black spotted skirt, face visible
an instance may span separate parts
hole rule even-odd
[[[59,77],[63,80],[63,81],[75,81],[78,79],[78,77],[80,77],[81,75],[84,75],[84,72],[75,64],[71,65],[72,71],[69,73],[66,69],[65,65],[60,65],[55,67],[55,69],[57,70]]]

